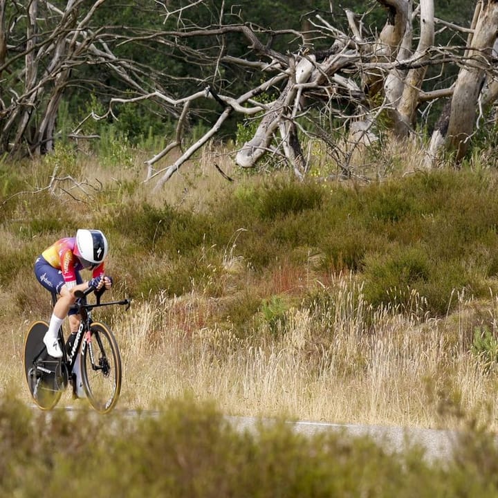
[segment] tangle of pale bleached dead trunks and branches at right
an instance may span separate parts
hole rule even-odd
[[[492,103],[498,92],[498,85],[491,84],[496,81],[497,73],[490,64],[491,48],[497,33],[497,3],[478,2],[483,5],[478,5],[474,24],[470,28],[435,19],[433,0],[421,0],[414,10],[412,1],[408,0],[379,0],[378,3],[387,12],[387,22],[378,37],[365,32],[361,20],[358,21],[358,17],[348,10],[345,12],[349,22],[348,33],[332,26],[323,16],[310,19],[309,24],[313,26],[315,36],[326,35],[331,39],[329,50],[320,53],[313,52],[313,44],[309,42],[313,36],[310,33],[296,33],[296,36],[306,35],[306,50],[290,54],[269,50],[268,44],[259,39],[265,37],[266,33],[257,33],[247,26],[221,26],[216,30],[172,32],[164,35],[185,39],[237,32],[246,37],[254,53],[259,55],[259,61],[238,59],[225,53],[220,54],[219,61],[240,67],[258,68],[261,74],[270,73],[282,80],[279,95],[273,102],[261,104],[246,100],[244,95],[236,98],[235,102],[238,106],[250,102],[251,107],[231,107],[225,109],[219,117],[219,120],[223,120],[231,111],[242,114],[262,111],[254,136],[235,155],[235,162],[241,167],[254,167],[258,160],[279,149],[297,176],[306,174],[308,165],[302,154],[297,129],[299,119],[306,116],[307,109],[311,106],[318,105],[321,109],[335,113],[333,118],[342,121],[345,131],[349,130],[350,147],[354,148],[360,143],[375,139],[378,133],[374,131],[378,129],[378,116],[383,112],[391,116],[392,136],[414,136],[415,129],[420,124],[418,109],[421,105],[448,97],[452,97],[452,106],[449,108],[451,112],[448,113],[448,108],[443,109],[440,122],[444,122],[448,115],[447,124],[443,127],[448,129],[451,139],[438,142],[438,147],[435,148],[433,144],[430,150],[437,155],[446,147],[456,148],[459,151],[457,158],[460,158],[472,136],[479,98],[485,98],[481,93],[485,75],[490,82],[486,86],[486,102]],[[418,42],[414,47],[415,21],[418,25]],[[458,33],[468,33],[471,43],[468,46],[435,46],[436,24]],[[272,33],[272,36],[278,34]],[[423,90],[427,68],[442,64],[459,68],[457,80],[444,89]],[[259,86],[253,91],[256,94],[262,89]],[[219,95],[219,99],[226,102],[228,98]],[[342,109],[333,109],[331,102],[339,101],[347,101],[353,111],[344,114]],[[220,122],[216,122],[174,164],[149,176],[155,178],[162,175],[156,188],[160,188],[212,137],[219,124]],[[149,168],[163,156],[158,154],[149,160]]]

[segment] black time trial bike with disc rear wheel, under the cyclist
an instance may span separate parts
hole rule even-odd
[[[122,305],[125,311],[131,305],[131,299],[100,302],[101,294],[95,293],[95,303],[89,304],[86,296],[95,288],[76,291],[75,308],[81,316],[81,322],[74,342],[67,350],[64,347],[62,326],[58,340],[62,345],[62,358],[48,355],[43,342],[48,330],[48,323],[42,320],[31,324],[24,342],[24,369],[28,389],[39,408],[53,409],[57,405],[68,383],[73,387],[73,397],[84,392],[92,407],[105,414],[116,406],[121,391],[122,369],[118,342],[109,326],[102,322],[93,322],[92,311],[102,306]],[[52,304],[57,296],[52,295]],[[80,376],[76,371],[80,367]],[[80,377],[80,378],[77,378]],[[77,382],[81,383],[77,385]]]

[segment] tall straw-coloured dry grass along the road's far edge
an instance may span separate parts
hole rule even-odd
[[[465,334],[455,335],[452,317],[421,322],[383,309],[365,332],[360,289],[349,277],[335,286],[335,311],[293,309],[285,333],[259,329],[246,339],[190,326],[209,307],[199,297],[140,304],[114,324],[126,372],[122,405],[149,407],[190,391],[230,414],[425,427],[496,412],[496,373],[470,353]],[[460,320],[467,306],[461,302]]]

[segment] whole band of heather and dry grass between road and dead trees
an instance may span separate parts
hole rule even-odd
[[[50,189],[47,161],[19,167],[1,194],[6,365],[21,363],[26,324],[50,313],[35,257],[100,228],[113,295],[133,297],[125,317],[101,315],[120,333],[124,405],[192,389],[232,413],[433,424],[425,385],[450,379],[462,404],[496,409],[493,170],[370,182],[196,170],[151,195],[141,166],[74,158],[72,181],[61,167]],[[167,380],[151,382],[159,371]]]

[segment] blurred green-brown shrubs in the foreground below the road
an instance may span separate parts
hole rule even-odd
[[[95,498],[491,498],[498,492],[495,438],[480,427],[461,434],[454,459],[429,463],[411,441],[391,452],[367,436],[304,435],[279,420],[242,431],[212,403],[189,397],[158,408],[132,421],[84,410],[55,410],[47,418],[2,396],[1,495],[36,496],[40,483],[48,495],[74,498],[90,491]]]

